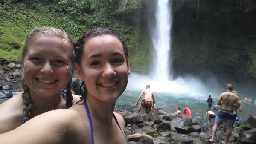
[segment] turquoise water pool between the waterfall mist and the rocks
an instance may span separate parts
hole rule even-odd
[[[123,107],[127,110],[135,108],[134,104],[137,101],[141,91],[125,90],[125,92],[116,101],[116,106]],[[203,121],[205,112],[208,109],[207,98],[208,95],[186,95],[186,94],[171,94],[171,93],[157,93],[156,106],[163,108],[163,111],[173,113],[177,107],[183,111],[185,107],[189,107],[192,112],[192,117],[197,118],[198,121]],[[212,95],[214,103],[218,99],[218,95]],[[253,98],[255,100],[255,97]],[[256,114],[256,105],[242,101],[243,112],[238,112],[238,116],[244,121],[250,114]],[[212,104],[212,108],[215,104]]]

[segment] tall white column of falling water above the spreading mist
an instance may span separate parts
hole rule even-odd
[[[171,0],[157,0],[156,26],[152,35],[152,42],[156,52],[154,57],[154,71],[151,74],[156,81],[168,81],[172,78],[170,72],[169,55],[172,46],[171,26],[172,11]]]

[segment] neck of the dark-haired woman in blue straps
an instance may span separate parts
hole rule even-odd
[[[93,119],[101,121],[101,123],[103,122],[105,125],[112,126],[115,102],[108,103],[105,101],[99,101],[98,99],[89,96],[86,99],[86,103]]]

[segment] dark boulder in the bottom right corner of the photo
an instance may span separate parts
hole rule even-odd
[[[256,128],[246,130],[240,133],[240,138],[237,140],[237,144],[256,144]]]

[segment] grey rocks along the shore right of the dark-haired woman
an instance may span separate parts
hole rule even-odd
[[[154,108],[148,117],[137,108],[131,112],[119,112],[125,121],[127,144],[210,144],[213,124],[201,123],[195,118],[185,118]],[[225,135],[218,127],[212,144],[221,144]],[[256,115],[233,126],[230,144],[256,144]]]

